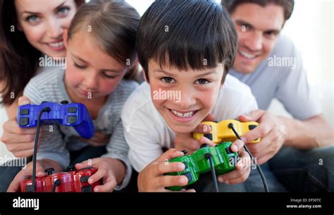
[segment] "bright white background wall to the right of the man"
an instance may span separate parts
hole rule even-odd
[[[334,1],[296,0],[295,10],[283,33],[292,38],[302,53],[309,84],[323,106],[323,115],[334,127]],[[269,110],[288,116],[283,106],[273,101]]]

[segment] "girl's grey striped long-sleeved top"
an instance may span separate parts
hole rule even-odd
[[[64,74],[61,68],[39,74],[30,80],[23,94],[31,100],[32,104],[41,104],[43,101],[59,103],[67,100],[72,102],[63,82]],[[123,183],[116,187],[117,190],[128,185],[132,173],[120,113],[126,99],[137,86],[135,81],[122,80],[109,94],[106,104],[102,106],[99,115],[93,121],[95,131],[111,135],[106,145],[107,154],[104,154],[103,157],[119,159],[127,166]],[[69,151],[82,149],[88,145],[87,142],[80,141],[80,135],[73,127],[52,125],[51,132],[49,126],[42,128],[44,133],[40,139],[37,159],[52,159],[66,168],[70,163]]]

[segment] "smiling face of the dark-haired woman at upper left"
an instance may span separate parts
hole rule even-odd
[[[51,57],[66,56],[63,29],[77,11],[74,0],[15,0],[18,30],[33,47]]]

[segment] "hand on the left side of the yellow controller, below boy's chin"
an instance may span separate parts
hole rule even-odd
[[[203,121],[214,121],[214,115],[209,113],[206,118],[204,118]],[[205,126],[205,129],[204,129]],[[204,132],[205,130],[205,132]],[[202,134],[209,134],[211,132],[211,129],[209,126],[204,125],[203,123],[200,123],[197,125],[195,130],[192,131],[192,133],[202,133]],[[187,154],[192,154],[194,151],[198,150],[199,147],[204,143],[203,141],[195,140],[192,138],[192,133],[190,134],[176,134],[176,137],[174,139],[174,147],[175,149],[178,149],[180,151],[187,150]],[[209,143],[210,146],[211,143]]]

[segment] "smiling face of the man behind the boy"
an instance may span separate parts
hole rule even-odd
[[[237,28],[237,57],[233,68],[252,73],[273,49],[284,24],[284,8],[269,4],[240,4],[231,14]]]

